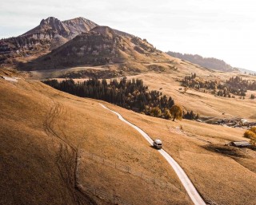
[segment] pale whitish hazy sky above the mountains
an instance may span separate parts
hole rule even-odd
[[[0,0],[0,38],[38,26],[42,18],[88,18],[146,38],[162,51],[217,57],[256,71],[253,0]]]

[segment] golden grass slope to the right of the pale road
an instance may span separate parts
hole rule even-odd
[[[173,122],[108,106],[153,139],[162,139],[166,152],[184,168],[206,202],[255,204],[255,152],[223,146],[230,140],[246,140],[244,130],[191,120]]]

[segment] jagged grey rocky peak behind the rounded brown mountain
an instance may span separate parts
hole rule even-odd
[[[12,64],[15,57],[40,56],[95,26],[98,25],[86,18],[63,22],[54,17],[42,19],[38,26],[25,34],[0,40],[0,64]]]

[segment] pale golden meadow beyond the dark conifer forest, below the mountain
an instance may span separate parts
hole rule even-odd
[[[191,73],[197,73],[197,76],[204,81],[222,81],[230,77],[239,76],[242,79],[255,81],[256,77],[241,74],[238,72],[218,72],[210,69],[204,69],[188,61],[182,61],[178,58],[169,57],[169,62],[130,62],[125,64],[112,64],[107,66],[83,66],[70,69],[42,70],[26,73],[30,79],[46,79],[54,77],[63,79],[64,77],[74,77],[75,81],[84,81],[88,77],[113,78],[124,77],[138,78],[144,81],[149,89],[161,90],[166,96],[174,98],[174,101],[181,104],[186,110],[193,110],[201,116],[210,116],[217,118],[246,118],[256,120],[254,107],[256,101],[250,99],[254,91],[248,90],[245,100],[234,98],[215,97],[210,93],[199,92],[194,89],[188,89],[186,93],[181,86],[182,79]],[[130,77],[129,77],[130,76]],[[62,77],[62,78],[59,78]]]

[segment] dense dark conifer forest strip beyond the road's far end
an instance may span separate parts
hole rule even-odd
[[[174,104],[172,97],[166,97],[157,90],[149,90],[142,80],[127,80],[123,77],[120,81],[114,79],[108,83],[93,78],[83,82],[75,83],[72,79],[58,82],[57,80],[42,81],[54,89],[76,95],[78,97],[90,97],[97,100],[117,104],[122,108],[141,112],[150,116],[157,116],[166,119],[173,117],[182,119],[183,111],[181,106]],[[188,119],[194,119],[194,113],[187,113]]]

